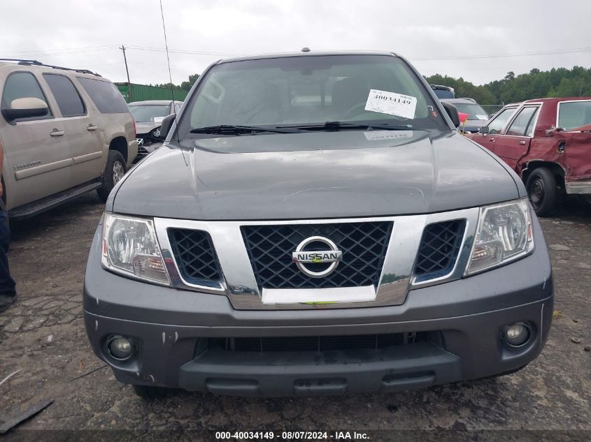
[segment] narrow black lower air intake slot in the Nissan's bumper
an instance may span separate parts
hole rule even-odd
[[[224,351],[258,353],[297,351],[347,351],[356,349],[379,350],[392,346],[426,341],[427,332],[358,334],[352,336],[289,336],[289,337],[241,337],[213,338],[208,348]]]

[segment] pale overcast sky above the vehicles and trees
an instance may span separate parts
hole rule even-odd
[[[588,0],[163,0],[173,82],[240,54],[373,49],[475,84],[532,68],[591,67]],[[158,0],[3,1],[0,57],[169,82]],[[540,54],[540,52],[544,52]],[[512,55],[511,57],[504,57]],[[478,57],[478,58],[474,58]]]

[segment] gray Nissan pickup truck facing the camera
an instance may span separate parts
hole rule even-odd
[[[397,391],[508,374],[550,329],[524,186],[390,52],[218,61],[111,191],[85,326],[154,398]]]

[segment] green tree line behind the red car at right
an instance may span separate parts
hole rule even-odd
[[[532,98],[591,96],[591,68],[552,68],[515,75],[508,72],[502,80],[476,86],[462,77],[431,75],[429,84],[444,84],[455,89],[455,96],[474,98],[483,105],[507,104]]]

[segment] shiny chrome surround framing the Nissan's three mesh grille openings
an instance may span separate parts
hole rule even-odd
[[[406,295],[413,288],[432,286],[460,279],[469,260],[469,254],[478,223],[479,208],[460,209],[451,212],[436,214],[404,215],[404,216],[376,216],[371,218],[355,219],[311,219],[311,220],[285,220],[285,221],[192,221],[180,219],[155,218],[154,226],[158,241],[162,250],[164,262],[169,271],[172,285],[184,290],[194,290],[201,293],[215,293],[226,295],[234,309],[238,310],[294,310],[294,309],[339,309],[352,307],[379,307],[386,305],[400,305],[404,303]],[[421,280],[413,274],[415,260],[418,256],[420,241],[425,227],[441,221],[453,221],[464,219],[466,227],[460,244],[459,253],[455,265],[448,274],[434,279]],[[290,302],[273,304],[264,302],[265,291],[268,299],[277,299],[279,295],[285,295],[283,290],[269,293],[269,290],[259,290],[255,272],[252,269],[248,251],[241,232],[242,226],[260,225],[292,225],[292,224],[322,224],[322,223],[364,223],[376,221],[392,222],[392,234],[387,245],[383,267],[377,288],[363,286],[359,288],[346,288],[355,293],[356,289],[363,289],[364,295],[355,300],[338,302],[336,304],[315,304]],[[204,286],[186,281],[181,276],[178,264],[173,258],[173,252],[167,230],[180,228],[189,230],[204,230],[211,236],[218,256],[222,280],[211,286]],[[287,251],[291,253],[292,251]],[[373,296],[367,297],[367,290],[373,291]],[[309,297],[330,297],[340,293],[343,288],[306,288],[287,289],[292,290],[293,295]],[[271,290],[272,291],[272,290]]]

